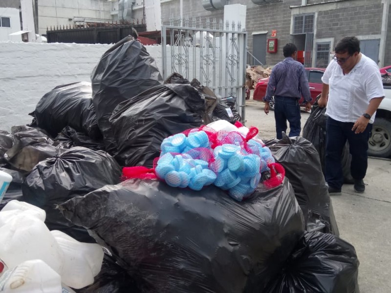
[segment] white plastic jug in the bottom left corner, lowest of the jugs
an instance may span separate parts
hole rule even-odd
[[[60,275],[40,259],[22,262],[0,277],[0,293],[62,293]]]

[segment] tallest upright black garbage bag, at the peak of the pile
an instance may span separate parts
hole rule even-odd
[[[139,93],[163,83],[154,59],[132,37],[113,45],[91,73],[92,100],[107,151],[115,152],[109,118],[114,108]]]

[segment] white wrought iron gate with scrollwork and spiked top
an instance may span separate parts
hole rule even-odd
[[[171,18],[162,26],[163,78],[176,72],[197,79],[217,97],[236,98],[244,121],[247,32],[240,22],[227,21],[225,29],[222,20],[207,19],[205,28],[201,19],[183,22]]]

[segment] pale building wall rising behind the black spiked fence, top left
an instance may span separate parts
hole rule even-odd
[[[117,1],[108,0],[39,0],[39,34],[46,34],[46,27],[69,26],[74,17],[111,21],[115,5],[118,8]]]

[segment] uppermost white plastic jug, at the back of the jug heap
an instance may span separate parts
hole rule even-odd
[[[25,202],[12,200],[0,210],[0,227],[19,214],[32,215],[42,222],[44,222],[46,218],[46,212],[43,209]]]

